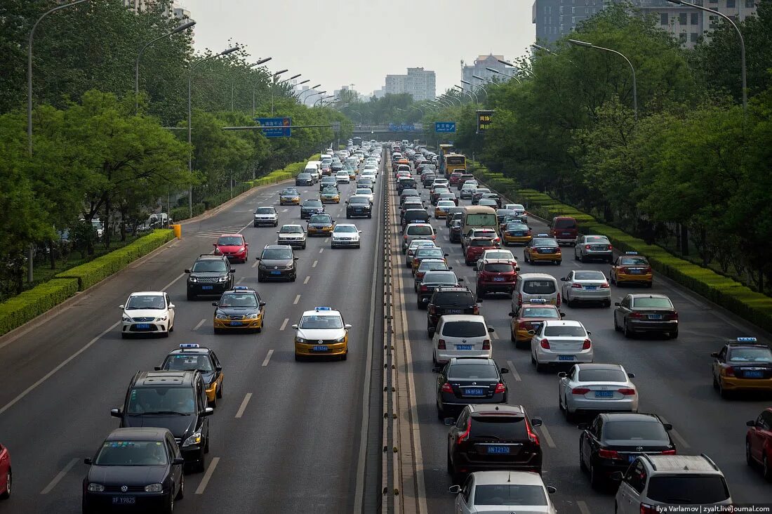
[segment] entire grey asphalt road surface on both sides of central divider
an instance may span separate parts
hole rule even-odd
[[[385,159],[384,159],[385,162]],[[224,366],[225,396],[210,418],[211,451],[204,473],[188,475],[187,494],[179,512],[377,512],[381,406],[381,189],[391,173],[381,173],[374,216],[352,220],[362,230],[361,250],[332,250],[326,238],[310,238],[294,283],[256,280],[255,257],[276,242],[276,229],[252,227],[257,206],[275,205],[279,224],[301,223],[298,207],[278,206],[286,184],[256,189],[205,220],[183,226],[184,237],[132,265],[110,281],[80,295],[45,324],[15,339],[0,340],[4,376],[0,388],[0,442],[12,452],[14,495],[0,502],[0,512],[80,512],[83,458],[117,420],[117,407],[131,376],[153,369],[182,342],[210,346]],[[317,198],[318,186],[298,188],[303,199]],[[342,199],[354,185],[341,186]],[[421,189],[427,199],[428,191]],[[396,202],[396,196],[391,198]],[[467,204],[468,201],[462,201]],[[339,221],[345,204],[327,206]],[[472,267],[463,264],[460,247],[449,243],[442,220],[438,244],[466,284],[474,288]],[[305,222],[303,222],[305,225]],[[532,220],[535,232],[543,225]],[[396,225],[394,232],[398,232]],[[221,233],[240,232],[250,243],[250,260],[235,264],[239,285],[257,288],[266,299],[266,328],[261,334],[214,335],[212,305],[216,299],[187,301],[185,275],[195,257],[211,253]],[[520,258],[521,273],[543,271],[562,277],[574,268],[598,269],[607,264],[581,264],[564,248],[560,267],[530,265]],[[408,321],[406,336],[414,360],[415,398],[422,471],[428,512],[452,512],[451,485],[445,472],[447,427],[435,414],[435,374],[425,311],[415,305],[412,277],[404,257],[394,252],[397,287]],[[379,260],[380,259],[380,260]],[[177,308],[175,330],[168,339],[120,339],[120,309],[132,291],[168,291]],[[615,301],[628,289],[612,286]],[[743,454],[745,421],[767,407],[767,399],[721,400],[711,386],[709,353],[723,339],[757,335],[757,329],[709,304],[695,294],[655,277],[652,292],[668,294],[679,308],[679,339],[624,339],[614,332],[611,309],[562,310],[592,332],[596,362],[621,363],[635,373],[641,410],[660,414],[675,430],[681,453],[706,453],[726,474],[739,502],[772,502],[772,492]],[[316,305],[339,309],[350,331],[350,355],[344,362],[296,363],[293,330],[303,310]],[[560,512],[613,512],[609,494],[591,490],[577,462],[579,431],[557,408],[557,377],[536,373],[526,350],[509,340],[510,298],[485,298],[482,314],[496,329],[493,356],[512,369],[510,403],[522,403],[541,417],[544,480],[557,487]],[[375,337],[374,337],[375,335]],[[764,338],[760,337],[760,340]],[[372,394],[371,394],[372,393]],[[414,453],[415,454],[415,453]]]

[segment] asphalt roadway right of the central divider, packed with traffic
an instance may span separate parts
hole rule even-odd
[[[393,175],[392,175],[393,180]],[[452,189],[455,191],[455,189]],[[453,271],[464,278],[464,284],[475,290],[475,274],[464,264],[460,244],[449,243],[445,220],[433,218],[433,206],[428,189],[419,186],[425,205],[432,208],[432,225],[438,233],[437,244],[449,254]],[[398,197],[394,193],[394,202]],[[461,200],[459,205],[470,205]],[[396,204],[395,204],[396,205]],[[394,228],[398,233],[399,214],[396,209]],[[530,219],[533,234],[547,232],[547,227]],[[395,243],[397,244],[397,243]],[[574,260],[571,247],[563,247],[563,262],[526,264],[522,247],[509,247],[519,261],[520,273],[543,272],[560,279],[572,269],[600,270],[607,277],[608,264],[580,263]],[[405,257],[394,251],[394,267],[401,278],[401,307],[408,318],[408,339],[415,370],[415,394],[418,403],[422,446],[422,467],[428,512],[453,512],[454,496],[447,492],[452,484],[445,471],[448,427],[437,419],[435,407],[435,373],[432,373],[432,342],[426,334],[426,311],[418,310],[411,272],[405,267]],[[756,335],[758,329],[735,318],[723,309],[709,304],[675,284],[655,275],[652,289],[611,286],[613,301],[619,301],[628,291],[667,294],[679,311],[679,338],[656,339],[643,337],[625,339],[614,331],[612,309],[598,306],[571,308],[563,305],[565,319],[581,321],[592,332],[596,363],[621,363],[638,386],[640,412],[659,414],[673,425],[672,437],[681,454],[707,454],[721,468],[730,485],[735,502],[772,502],[772,491],[757,470],[745,462],[745,422],[755,419],[769,405],[768,397],[722,400],[713,390],[710,352],[716,352],[726,339],[741,335]],[[537,428],[543,448],[543,478],[554,485],[553,495],[558,512],[563,514],[608,514],[614,512],[614,492],[594,492],[588,475],[578,464],[579,434],[576,424],[569,424],[557,407],[557,376],[537,373],[530,363],[527,349],[515,349],[510,342],[510,296],[487,295],[480,304],[480,313],[496,332],[493,337],[493,357],[499,366],[512,370],[507,377],[510,386],[508,402],[522,404],[531,417],[543,419]],[[420,493],[420,492],[419,492]]]

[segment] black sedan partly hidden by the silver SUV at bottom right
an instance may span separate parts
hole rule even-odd
[[[675,444],[656,414],[598,414],[589,425],[577,425],[579,436],[579,467],[590,474],[593,488],[609,482],[614,471],[627,470],[640,454],[675,454]]]

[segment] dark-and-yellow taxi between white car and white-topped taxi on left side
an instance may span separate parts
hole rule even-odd
[[[253,330],[262,332],[266,318],[266,302],[254,289],[237,285],[225,291],[215,306],[215,334],[231,330]]]

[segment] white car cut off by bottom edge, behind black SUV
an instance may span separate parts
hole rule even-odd
[[[476,471],[463,486],[452,485],[448,492],[455,495],[455,514],[557,514],[550,500],[556,489],[544,485],[541,475],[532,471]]]

